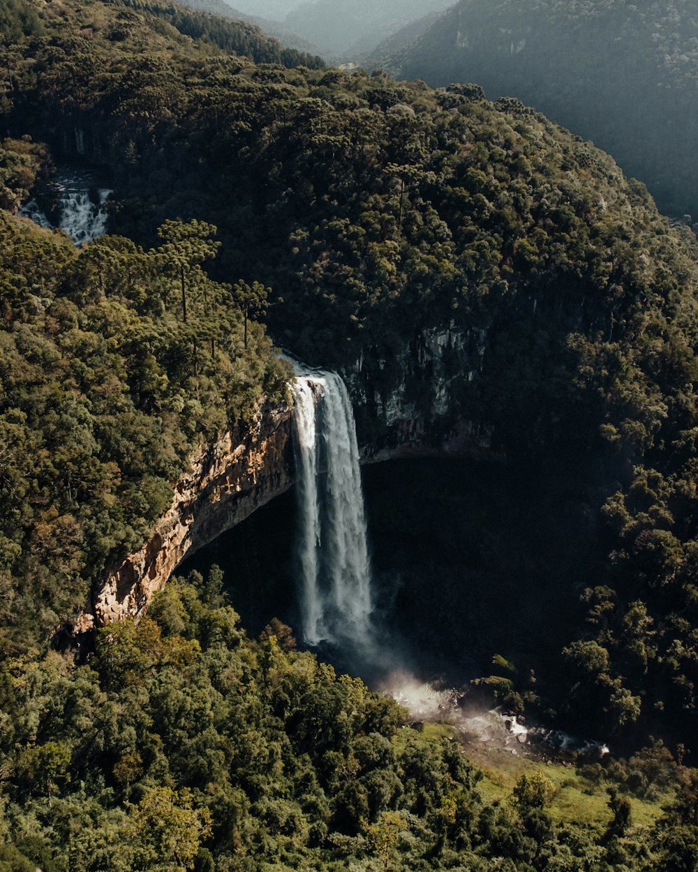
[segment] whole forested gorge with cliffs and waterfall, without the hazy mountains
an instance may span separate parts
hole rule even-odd
[[[687,224],[175,0],[0,31],[0,870],[694,872]],[[76,244],[17,212],[78,160]]]

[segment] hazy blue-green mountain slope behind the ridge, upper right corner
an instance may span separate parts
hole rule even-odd
[[[698,215],[698,15],[691,0],[461,0],[368,65],[476,82],[613,154],[673,215]]]

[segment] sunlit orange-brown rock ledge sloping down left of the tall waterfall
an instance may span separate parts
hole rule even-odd
[[[203,446],[177,482],[172,506],[153,535],[92,591],[70,635],[140,615],[185,555],[291,487],[291,433],[291,406],[264,408],[251,426]]]

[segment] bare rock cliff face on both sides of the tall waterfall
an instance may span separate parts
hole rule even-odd
[[[346,372],[363,462],[439,453],[489,453],[489,433],[459,415],[482,337],[425,330],[389,364],[359,361]],[[475,363],[474,363],[475,361]],[[385,378],[380,378],[380,374]],[[244,521],[294,482],[292,407],[264,408],[252,426],[202,448],[175,486],[168,512],[139,551],[92,590],[70,635],[137,617],[186,555]]]

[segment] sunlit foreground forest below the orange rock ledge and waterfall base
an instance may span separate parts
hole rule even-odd
[[[627,765],[678,786],[654,828],[618,787],[597,824],[556,823],[544,775],[487,801],[456,741],[294,649],[279,624],[245,637],[214,571],[99,630],[87,664],[5,660],[0,869],[694,868],[698,780],[666,750]]]

